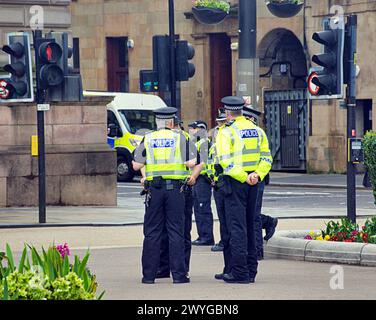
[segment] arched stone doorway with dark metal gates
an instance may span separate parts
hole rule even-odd
[[[261,40],[258,56],[273,170],[306,171],[308,68],[304,48],[293,32],[277,28]]]

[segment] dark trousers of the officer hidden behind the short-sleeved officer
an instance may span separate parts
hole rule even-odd
[[[185,197],[185,210],[184,210],[184,260],[186,271],[189,272],[192,242],[191,242],[191,230],[192,230],[192,214],[193,214],[193,196],[192,188],[189,187],[184,193]],[[170,258],[169,258],[169,245],[168,234],[166,228],[162,235],[161,245],[161,260],[159,263],[159,272],[163,275],[170,273]]]

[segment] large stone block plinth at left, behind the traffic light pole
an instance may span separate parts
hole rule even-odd
[[[106,143],[108,98],[55,103],[45,113],[48,205],[116,205],[116,152]],[[0,207],[38,205],[35,104],[0,105]]]

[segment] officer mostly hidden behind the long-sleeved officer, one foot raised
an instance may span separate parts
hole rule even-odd
[[[243,107],[243,115],[246,119],[251,120],[255,125],[259,123],[258,119],[261,112],[253,109],[251,106]],[[274,234],[275,228],[278,224],[278,219],[271,216],[267,216],[261,213],[262,198],[264,196],[265,185],[269,182],[269,174],[265,177],[264,181],[261,181],[258,186],[258,194],[256,201],[256,215],[255,215],[255,236],[256,236],[256,250],[257,260],[264,258],[264,243],[262,238],[262,229],[265,229],[266,234],[265,241],[268,241]]]

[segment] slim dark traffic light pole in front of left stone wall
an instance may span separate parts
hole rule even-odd
[[[42,31],[34,31],[34,48],[36,39],[42,38]],[[36,51],[36,50],[35,50]],[[35,61],[38,61],[38,52],[35,52]],[[44,90],[40,88],[40,79],[36,76],[36,102],[37,105],[45,102]],[[37,108],[37,132],[38,132],[38,201],[39,201],[39,223],[46,223],[46,160],[44,140],[44,111]]]

